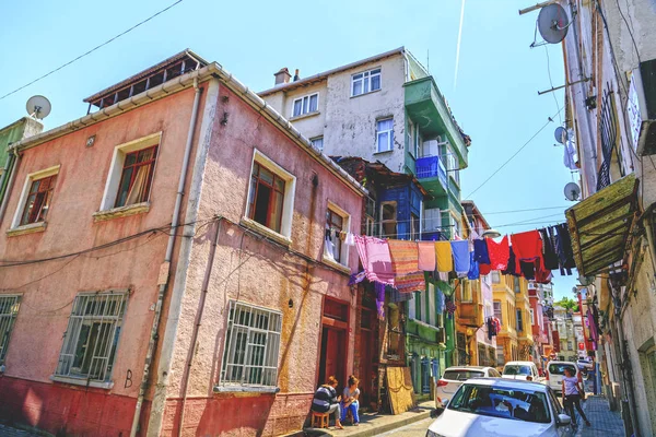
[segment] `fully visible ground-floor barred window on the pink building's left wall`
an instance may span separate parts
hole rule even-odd
[[[127,300],[127,292],[75,297],[54,379],[109,381]]]

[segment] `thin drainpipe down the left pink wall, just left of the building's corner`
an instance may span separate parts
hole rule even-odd
[[[191,145],[194,140],[194,131],[196,130],[196,119],[198,118],[198,107],[200,105],[200,93],[202,90],[198,86],[198,79],[194,79],[194,88],[196,95],[194,96],[194,106],[191,107],[191,120],[189,121],[189,131],[187,133],[187,144],[185,145],[185,155],[183,158],[183,168],[180,170],[180,179],[178,181],[177,194],[175,198],[175,208],[173,210],[173,216],[171,218],[171,225],[176,226],[180,217],[180,205],[183,203],[183,196],[185,194],[185,180],[187,179],[187,170],[189,167],[189,157],[191,155]],[[164,257],[165,263],[171,263],[173,258],[173,245],[175,244],[176,228],[173,227],[168,235],[168,245],[166,246],[166,255]],[[137,436],[137,429],[139,427],[139,418],[141,416],[141,408],[143,405],[143,398],[145,390],[148,389],[148,381],[150,377],[150,370],[153,362],[153,355],[155,345],[157,343],[157,329],[160,328],[160,319],[162,318],[162,305],[164,304],[164,297],[166,288],[168,286],[169,275],[166,277],[166,282],[160,285],[157,295],[157,303],[155,305],[155,314],[153,316],[153,326],[151,328],[150,341],[148,344],[148,352],[145,354],[145,363],[143,366],[143,375],[141,377],[141,385],[139,387],[139,395],[137,398],[137,406],[134,408],[134,417],[132,420],[132,428],[130,429],[130,437]]]

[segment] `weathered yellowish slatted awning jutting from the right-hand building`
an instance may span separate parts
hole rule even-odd
[[[623,258],[637,208],[637,184],[631,174],[565,211],[582,276],[599,273]]]

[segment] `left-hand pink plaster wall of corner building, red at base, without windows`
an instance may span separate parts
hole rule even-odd
[[[176,93],[25,151],[0,223],[0,259],[73,253],[169,224],[192,101],[192,90]],[[95,223],[92,214],[101,205],[114,147],[160,131],[150,211]],[[96,137],[95,143],[87,147],[91,135]],[[5,231],[22,206],[17,203],[26,175],[55,165],[60,169],[46,229],[8,237]],[[91,253],[2,269],[0,293],[22,294],[7,371],[0,378],[2,417],[51,433],[129,433],[166,241],[164,233],[152,233]],[[131,290],[112,376],[114,387],[87,388],[83,380],[81,386],[52,382],[74,297],[109,288]]]

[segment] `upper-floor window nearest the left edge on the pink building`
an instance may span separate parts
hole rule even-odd
[[[31,173],[25,178],[19,208],[12,222],[12,228],[45,223],[52,202],[52,192],[57,182],[59,166]]]

